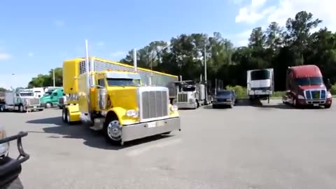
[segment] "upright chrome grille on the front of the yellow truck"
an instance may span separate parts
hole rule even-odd
[[[160,118],[168,116],[167,91],[154,90],[141,92],[142,118]]]

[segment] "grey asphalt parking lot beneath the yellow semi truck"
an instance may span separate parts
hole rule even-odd
[[[29,132],[31,158],[20,175],[27,189],[335,188],[336,105],[264,104],[183,110],[181,132],[123,148],[83,125],[63,125],[59,109],[0,113],[0,124],[8,135]]]

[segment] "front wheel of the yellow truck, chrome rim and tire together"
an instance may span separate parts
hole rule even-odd
[[[104,135],[106,140],[113,146],[121,145],[121,125],[118,118],[113,116],[106,119],[104,123]]]

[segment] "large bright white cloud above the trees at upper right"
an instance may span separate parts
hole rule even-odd
[[[239,8],[236,22],[244,22],[251,27],[246,31],[234,36],[235,45],[247,45],[248,37],[254,27],[262,27],[266,29],[270,22],[278,22],[284,26],[288,18],[294,18],[295,14],[305,10],[314,15],[314,19],[323,20],[321,27],[328,27],[332,31],[336,31],[336,1],[332,0],[278,0],[271,6],[265,6],[267,0],[251,0],[247,6]],[[319,28],[312,29],[311,32],[317,31]]]

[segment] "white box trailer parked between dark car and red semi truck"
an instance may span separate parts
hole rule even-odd
[[[267,99],[274,92],[274,70],[253,69],[247,71],[247,94],[250,100]]]

